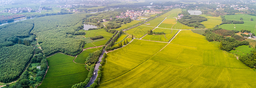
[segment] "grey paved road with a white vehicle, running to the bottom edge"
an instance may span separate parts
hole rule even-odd
[[[98,71],[99,71],[99,66],[100,66],[100,62],[102,61],[102,57],[103,57],[103,54],[105,53],[106,51],[104,50],[101,55],[100,55],[100,58],[99,58],[99,61],[97,62],[96,66],[95,66],[95,69],[94,69],[94,72],[96,73],[95,75],[93,75],[93,77],[91,78],[90,82],[86,85],[86,87],[90,87],[91,84],[93,84],[93,82],[96,80],[97,76],[98,76]],[[93,73],[94,73],[93,72]]]

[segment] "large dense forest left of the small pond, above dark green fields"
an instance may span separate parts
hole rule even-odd
[[[85,43],[82,39],[75,40],[73,36],[83,28],[81,16],[67,14],[32,19],[35,25],[30,34],[37,36],[46,56],[57,52],[77,55]]]

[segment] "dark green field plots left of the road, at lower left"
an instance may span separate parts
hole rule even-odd
[[[48,65],[50,63],[49,69],[42,84],[38,88],[70,87],[72,84],[85,81],[89,71],[85,69],[84,64],[72,62],[74,58],[61,53],[48,57]]]

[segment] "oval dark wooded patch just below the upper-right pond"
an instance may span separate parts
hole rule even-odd
[[[202,16],[197,16],[197,15],[188,15],[188,16],[183,16],[181,19],[178,19],[178,21],[190,27],[205,28],[205,26],[200,22],[207,21],[207,18]]]

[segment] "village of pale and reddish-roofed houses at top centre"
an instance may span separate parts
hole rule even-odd
[[[127,18],[130,17],[131,19],[136,19],[138,16],[142,16],[144,11],[134,11],[134,10],[127,10],[125,13],[122,12],[120,16],[116,16],[116,18]]]

